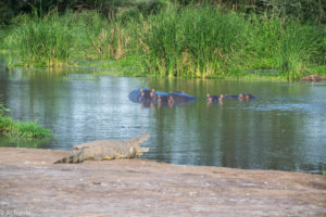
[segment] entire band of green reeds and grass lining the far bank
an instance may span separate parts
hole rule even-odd
[[[234,1],[146,2],[106,16],[99,8],[47,13],[35,8],[2,28],[0,46],[16,58],[9,64],[27,67],[97,65],[134,68],[131,76],[191,78],[252,77],[255,69],[276,69],[277,78],[289,80],[326,74],[323,8],[305,17],[289,14],[277,0],[256,1],[251,10],[237,9]]]

